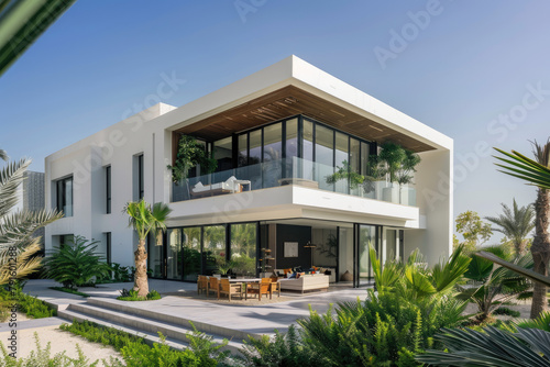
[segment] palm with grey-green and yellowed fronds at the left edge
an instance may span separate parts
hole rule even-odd
[[[13,211],[19,201],[18,188],[30,164],[30,159],[21,159],[0,169],[0,285],[38,269],[42,259],[34,255],[41,249],[40,237],[33,237],[33,233],[62,218],[56,211]]]

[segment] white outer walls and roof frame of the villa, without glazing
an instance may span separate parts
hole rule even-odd
[[[170,202],[172,175],[166,166],[173,159],[174,131],[288,86],[429,146],[419,153],[416,207],[299,185]],[[122,208],[139,197],[139,155],[143,155],[144,199],[170,203],[168,226],[288,219],[365,223],[404,230],[404,252],[418,247],[431,264],[452,249],[452,140],[295,56],[180,108],[153,105],[46,157],[46,208],[57,205],[56,182],[73,177],[73,216],[46,227],[46,249],[58,245],[59,236],[82,235],[101,241],[106,251],[110,233],[112,262],[133,264],[136,241]],[[106,213],[107,166],[111,167],[110,214]]]

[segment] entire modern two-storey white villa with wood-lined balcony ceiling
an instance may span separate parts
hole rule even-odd
[[[428,101],[427,101],[428,104]],[[173,182],[182,136],[217,160]],[[328,179],[369,175],[385,142],[417,153],[413,185]],[[369,247],[385,260],[419,248],[428,263],[452,251],[453,141],[290,56],[183,107],[160,103],[45,159],[46,251],[81,235],[108,262],[133,265],[129,201],[169,203],[164,242],[148,241],[151,277],[196,281],[220,258],[242,274],[314,266],[360,287]]]

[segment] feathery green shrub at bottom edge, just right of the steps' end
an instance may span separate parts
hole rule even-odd
[[[262,335],[260,340],[249,337],[240,352],[241,355],[237,356],[235,359],[241,366],[324,366],[322,358],[319,358],[320,356],[317,356],[315,351],[301,342],[294,325],[288,327],[286,334],[282,334],[276,330],[273,338],[267,335]]]

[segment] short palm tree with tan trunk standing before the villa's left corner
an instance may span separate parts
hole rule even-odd
[[[166,230],[165,222],[172,209],[163,202],[157,202],[151,208],[151,204],[142,199],[138,202],[129,202],[124,208],[124,212],[129,215],[128,225],[138,232],[140,240],[138,249],[134,252],[135,275],[133,289],[138,291],[138,296],[146,297],[148,293],[148,282],[145,241],[150,232],[153,231],[154,234],[160,234]]]

